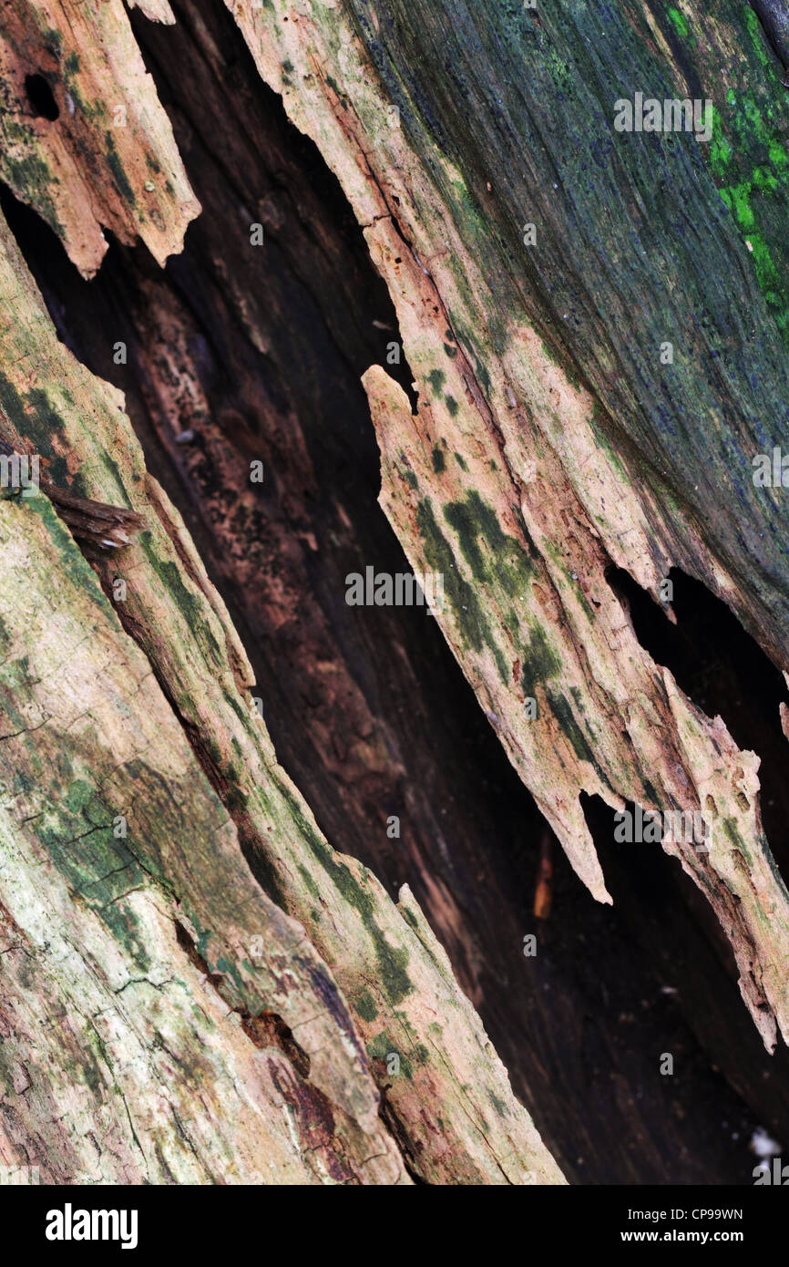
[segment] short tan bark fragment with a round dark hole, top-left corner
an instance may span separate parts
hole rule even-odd
[[[166,0],[143,11],[174,20]],[[104,228],[139,236],[160,264],[180,251],[200,207],[122,0],[11,0],[0,80],[0,176],[85,276],[106,251]]]

